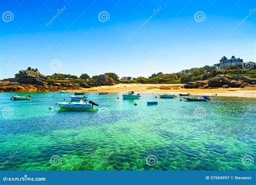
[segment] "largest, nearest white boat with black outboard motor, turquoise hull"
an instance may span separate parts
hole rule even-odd
[[[96,104],[93,101],[84,102],[83,100],[80,102],[57,102],[56,104],[59,108],[63,109],[90,109],[93,108],[93,105],[98,106],[99,104]]]

